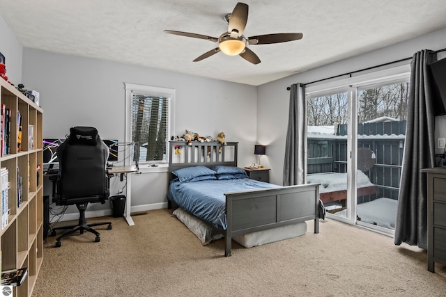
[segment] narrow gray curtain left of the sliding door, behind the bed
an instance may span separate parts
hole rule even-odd
[[[295,83],[290,88],[288,131],[286,133],[284,186],[305,182],[305,85]]]

